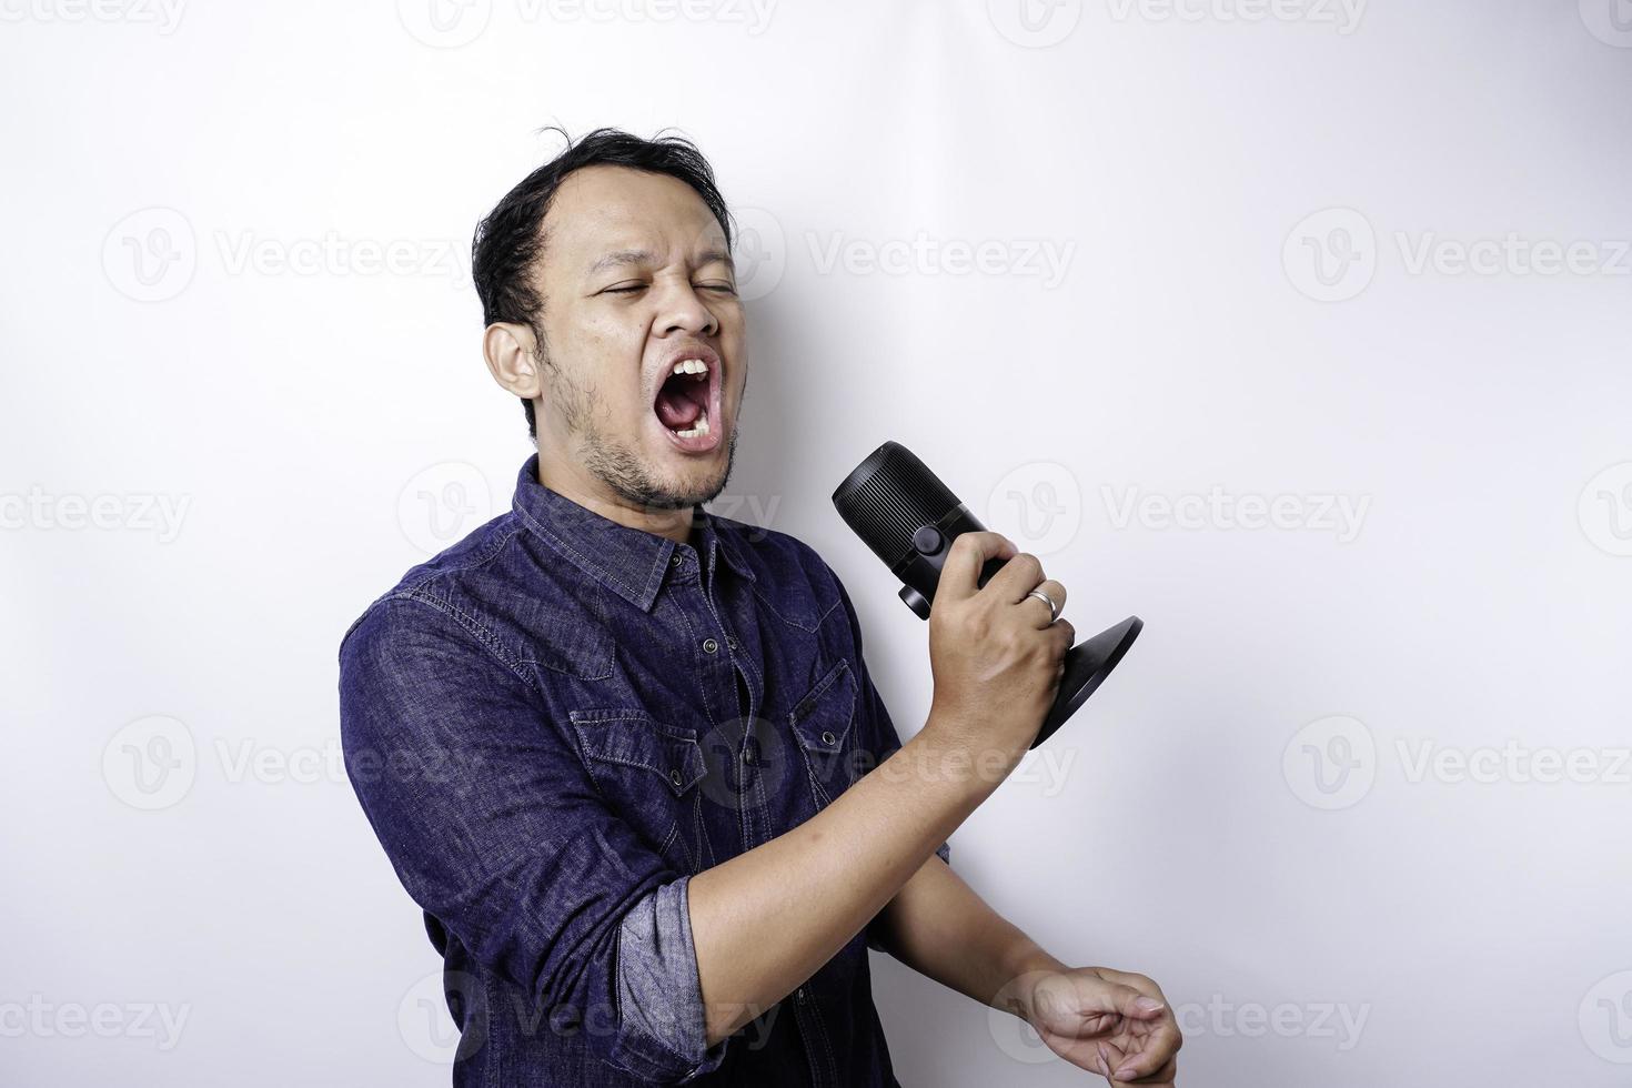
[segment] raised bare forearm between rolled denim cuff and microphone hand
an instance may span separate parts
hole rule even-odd
[[[927,726],[809,820],[690,879],[708,1046],[832,959],[997,788],[958,754]]]

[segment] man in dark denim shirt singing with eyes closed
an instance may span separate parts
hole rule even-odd
[[[481,222],[473,271],[539,452],[512,511],[339,651],[348,773],[444,958],[454,1083],[894,1085],[873,948],[1082,1068],[1170,1085],[1155,984],[1066,967],[948,866],[1053,701],[1064,586],[960,537],[902,745],[832,569],[702,509],[747,356],[697,148],[568,142]]]

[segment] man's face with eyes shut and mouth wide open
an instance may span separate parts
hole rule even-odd
[[[586,166],[557,189],[543,230],[540,457],[576,462],[640,507],[715,498],[747,382],[720,222],[677,178]],[[676,375],[684,360],[707,370]]]

